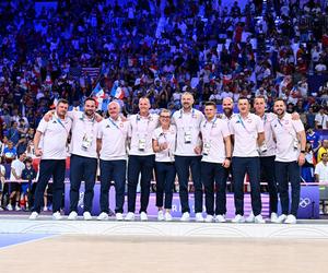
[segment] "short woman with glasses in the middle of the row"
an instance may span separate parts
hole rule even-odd
[[[176,176],[174,166],[174,152],[176,144],[176,128],[171,124],[171,111],[162,109],[160,114],[161,126],[153,133],[153,150],[155,152],[156,177],[156,206],[159,207],[159,221],[172,221],[171,209],[173,188]],[[165,213],[163,200],[165,192]]]

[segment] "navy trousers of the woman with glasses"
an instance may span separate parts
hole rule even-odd
[[[172,209],[173,188],[175,181],[175,166],[171,162],[155,162],[156,176],[156,206],[163,206],[164,192],[165,205],[164,209]]]

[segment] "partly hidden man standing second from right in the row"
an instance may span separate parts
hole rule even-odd
[[[270,221],[277,223],[278,219],[278,192],[274,178],[276,142],[271,128],[272,121],[277,118],[273,112],[266,112],[266,98],[258,96],[254,100],[255,114],[260,117],[265,129],[265,142],[259,146],[260,174],[268,183],[270,198]],[[248,221],[251,219],[251,216]]]

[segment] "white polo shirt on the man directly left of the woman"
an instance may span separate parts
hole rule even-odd
[[[130,155],[153,155],[152,136],[159,126],[159,115],[149,114],[142,117],[139,114],[129,118],[129,138],[131,138]],[[141,149],[141,145],[143,146]]]

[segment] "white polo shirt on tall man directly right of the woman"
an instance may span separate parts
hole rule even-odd
[[[201,145],[200,123],[204,120],[204,116],[197,109],[184,112],[183,109],[174,112],[172,122],[177,128],[177,145],[175,155],[195,156],[196,146]],[[190,135],[190,142],[186,143],[186,136]],[[189,136],[187,136],[189,138]]]

